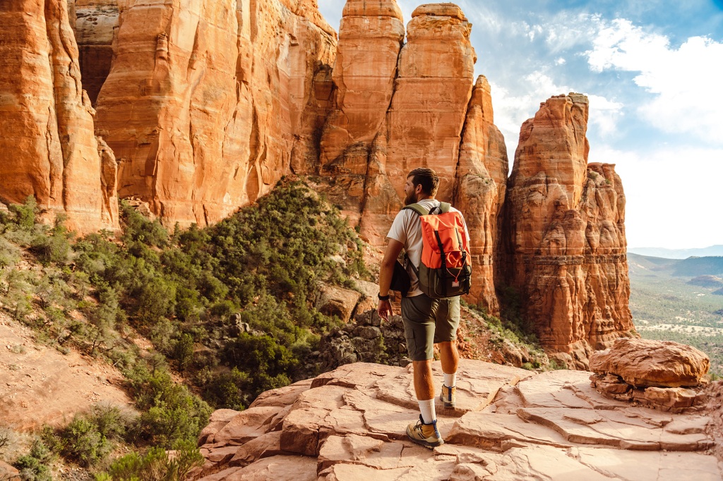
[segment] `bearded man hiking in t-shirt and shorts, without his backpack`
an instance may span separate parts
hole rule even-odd
[[[412,170],[404,186],[404,205],[421,204],[426,209],[439,207],[435,199],[439,178],[429,168]],[[456,211],[458,212],[458,211]],[[465,226],[466,230],[466,226]],[[395,217],[387,235],[389,243],[382,260],[379,274],[379,306],[377,312],[382,319],[392,314],[389,302],[389,287],[394,265],[402,248],[406,249],[409,261],[419,267],[422,261],[422,222],[411,209],[402,209]],[[469,238],[468,238],[469,242]],[[444,382],[440,400],[445,407],[455,406],[456,375],[459,354],[455,339],[459,326],[459,296],[448,299],[432,299],[419,290],[419,280],[414,269],[408,269],[411,287],[402,298],[402,320],[409,357],[414,368],[414,391],[419,402],[418,423],[407,426],[407,436],[415,443],[429,448],[444,443],[437,430],[435,413],[435,387],[432,380],[434,345],[440,349]]]

